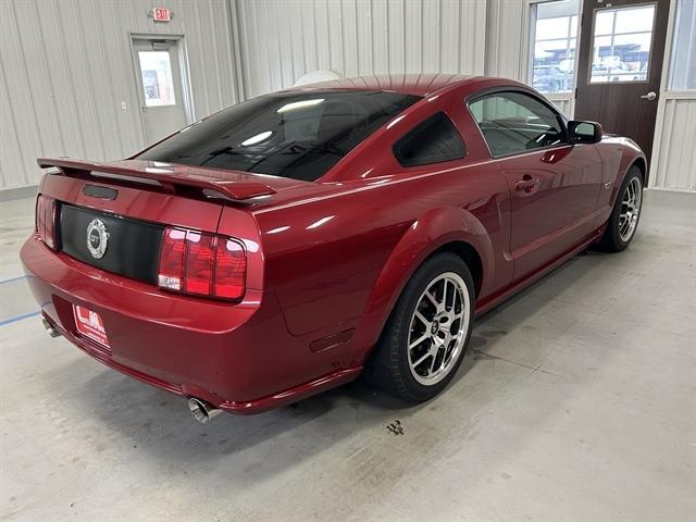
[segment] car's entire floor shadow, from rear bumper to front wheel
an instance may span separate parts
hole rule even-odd
[[[484,315],[473,332],[460,369],[444,394],[452,393],[452,387],[473,368],[489,360],[487,349],[507,334],[490,326],[496,319],[510,315],[515,322],[510,323],[512,326],[523,323],[534,311],[525,310],[530,296],[539,290],[546,294],[549,285],[555,287],[554,291],[563,291],[582,277],[579,263],[585,265],[581,269],[589,269],[596,262],[600,260],[595,253],[576,257]],[[220,459],[227,458],[231,480],[248,481],[277,473],[359,432],[394,436],[394,427],[399,427],[395,420],[413,418],[439,398],[412,406],[376,391],[359,380],[290,407],[251,417],[224,414],[210,424],[200,425],[183,398],[104,370],[73,387],[67,400],[82,402],[82,411],[99,415],[109,431],[132,440],[133,451],[147,451],[150,459],[181,469],[186,469],[191,461],[197,465],[216,467]],[[480,403],[481,396],[476,400],[470,405],[472,411],[486,406]],[[493,401],[495,396],[483,400]]]

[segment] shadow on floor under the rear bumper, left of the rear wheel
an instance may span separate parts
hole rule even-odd
[[[190,462],[196,468],[227,462],[233,482],[278,473],[361,430],[387,433],[386,419],[420,408],[356,382],[269,412],[222,414],[201,425],[184,398],[107,370],[70,395],[67,411],[79,402],[79,410],[97,417],[107,433],[117,434],[114,439],[129,440],[127,450],[182,470]]]

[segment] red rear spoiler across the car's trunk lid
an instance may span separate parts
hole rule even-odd
[[[172,194],[244,201],[275,194],[253,174],[144,160],[92,162],[69,158],[38,158],[41,169],[58,167],[61,174],[83,179],[105,178],[121,183],[159,185]]]

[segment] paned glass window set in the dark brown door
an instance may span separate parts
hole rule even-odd
[[[595,11],[591,84],[646,82],[655,4]]]

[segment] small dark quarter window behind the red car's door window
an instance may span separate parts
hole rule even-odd
[[[444,112],[430,116],[394,145],[394,156],[401,166],[460,160],[465,152],[455,124]]]

